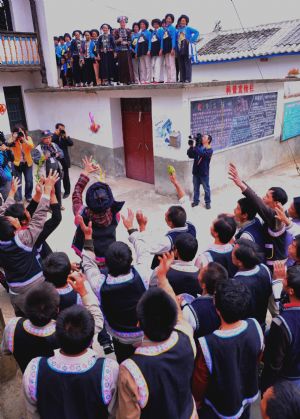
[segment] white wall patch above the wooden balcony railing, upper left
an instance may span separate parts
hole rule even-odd
[[[33,32],[29,0],[10,0],[13,29],[15,32]]]

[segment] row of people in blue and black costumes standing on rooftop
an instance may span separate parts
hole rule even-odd
[[[172,13],[149,22],[141,19],[127,27],[127,16],[117,19],[119,28],[103,23],[99,30],[74,30],[54,37],[59,83],[62,87],[111,84],[190,83],[191,56],[198,30],[181,15],[176,26]]]

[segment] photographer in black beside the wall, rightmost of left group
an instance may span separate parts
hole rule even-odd
[[[67,135],[64,124],[58,122],[55,125],[55,131],[52,135],[52,142],[57,144],[58,147],[64,153],[64,157],[60,160],[60,163],[63,168],[64,177],[63,177],[63,185],[64,185],[64,195],[63,198],[68,198],[71,192],[71,184],[70,184],[70,176],[69,176],[69,169],[71,167],[70,155],[69,155],[69,147],[72,147],[73,141]]]

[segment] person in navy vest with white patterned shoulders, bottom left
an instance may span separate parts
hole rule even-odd
[[[83,307],[69,307],[57,318],[60,350],[35,358],[23,380],[25,397],[43,419],[95,419],[109,416],[118,364],[89,348],[94,321]],[[30,378],[34,380],[30,381]],[[31,385],[29,385],[31,384]]]

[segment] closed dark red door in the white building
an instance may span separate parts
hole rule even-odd
[[[150,98],[121,99],[126,176],[154,184]]]

